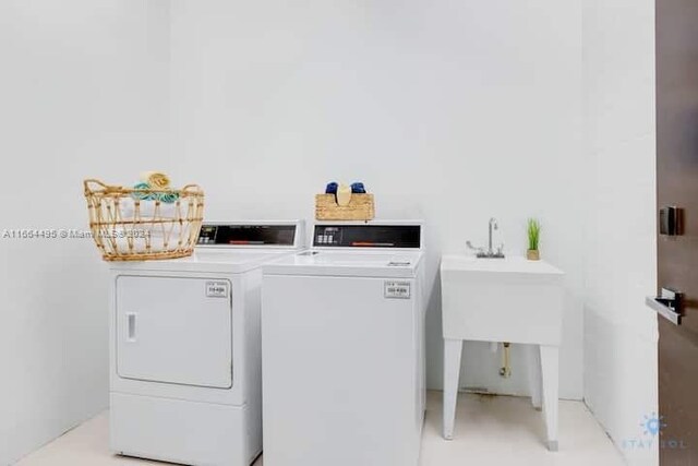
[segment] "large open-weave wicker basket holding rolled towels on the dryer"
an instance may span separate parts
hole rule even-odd
[[[89,229],[105,261],[177,259],[194,251],[204,214],[198,186],[133,189],[94,179],[84,186]]]

